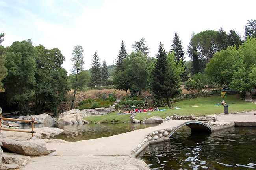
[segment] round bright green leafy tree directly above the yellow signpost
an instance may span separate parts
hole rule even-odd
[[[233,74],[243,67],[243,54],[235,46],[217,52],[206,66],[211,82],[220,86],[229,85]]]

